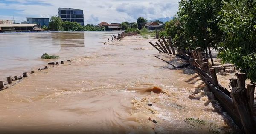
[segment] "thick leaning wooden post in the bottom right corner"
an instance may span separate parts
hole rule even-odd
[[[230,95],[239,113],[245,134],[256,134],[256,123],[250,110],[246,89],[244,87],[235,87],[230,92]]]

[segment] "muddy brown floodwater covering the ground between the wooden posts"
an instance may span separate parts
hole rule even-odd
[[[44,52],[60,55],[59,61],[71,59],[0,91],[0,133],[236,132],[198,75],[191,69],[173,70],[154,57],[183,64],[157,53],[148,44],[156,39],[129,36],[108,42],[111,35],[0,35],[1,75],[56,60],[40,59]],[[151,92],[154,86],[163,91]]]

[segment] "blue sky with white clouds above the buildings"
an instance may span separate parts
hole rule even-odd
[[[172,17],[180,0],[0,0],[0,19],[20,23],[26,17],[51,17],[58,8],[84,10],[85,24],[136,22],[138,17],[148,20]]]

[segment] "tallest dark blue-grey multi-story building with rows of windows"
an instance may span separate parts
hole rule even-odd
[[[84,11],[72,8],[58,8],[59,17],[62,21],[78,22],[84,25]]]

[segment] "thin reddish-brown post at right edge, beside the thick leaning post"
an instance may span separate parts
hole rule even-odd
[[[246,94],[247,94],[250,110],[253,113],[255,84],[247,84],[246,91],[247,91]]]

